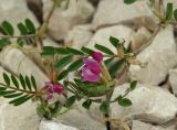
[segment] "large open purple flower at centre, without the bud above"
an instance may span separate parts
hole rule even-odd
[[[85,64],[81,69],[83,78],[91,83],[100,82],[102,73],[102,66],[100,62],[88,57],[83,58],[83,62]]]

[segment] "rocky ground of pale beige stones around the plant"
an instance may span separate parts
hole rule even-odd
[[[176,0],[165,0],[177,7]],[[13,24],[31,19],[35,26],[46,18],[51,0],[0,0],[0,22]],[[107,46],[108,37],[124,39],[125,46],[136,51],[148,44],[154,35],[158,19],[154,17],[146,1],[126,6],[123,0],[71,0],[69,7],[58,8],[50,20],[44,44],[58,46],[67,44],[80,48],[93,48],[95,43]],[[176,29],[168,25],[160,29],[152,44],[137,55],[144,67],[132,65],[127,75],[138,80],[137,88],[128,95],[133,106],[123,108],[112,105],[112,117],[129,120],[132,130],[177,130],[177,50]],[[18,34],[18,31],[15,31]],[[23,62],[21,62],[23,61]],[[0,53],[0,79],[9,68],[14,74],[33,75],[39,86],[49,80],[38,63],[25,53],[7,47]],[[114,96],[127,88],[126,76],[116,87]],[[117,123],[113,126],[118,130]],[[90,111],[80,102],[67,113],[53,122],[40,120],[35,104],[29,101],[20,107],[7,104],[0,98],[0,130],[106,130],[98,106]]]

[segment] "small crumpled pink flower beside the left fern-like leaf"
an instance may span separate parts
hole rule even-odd
[[[53,94],[62,94],[64,88],[61,84],[53,84],[52,82],[45,83],[45,89],[48,91],[46,99],[52,99]]]

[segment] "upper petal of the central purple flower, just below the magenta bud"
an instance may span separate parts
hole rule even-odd
[[[83,62],[86,65],[86,67],[90,71],[92,71],[94,74],[98,75],[102,73],[101,65],[97,61],[86,57],[86,58],[83,58]]]

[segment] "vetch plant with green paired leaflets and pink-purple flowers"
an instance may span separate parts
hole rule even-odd
[[[43,36],[51,14],[63,0],[53,1],[54,4],[48,19],[39,30],[29,19],[17,25],[21,35],[14,35],[14,28],[8,21],[3,21],[0,25],[4,34],[0,36],[0,48],[11,46],[21,50],[23,53],[28,53],[30,50],[40,53],[39,61],[42,61],[42,68],[50,80],[44,86],[38,86],[35,77],[32,75],[13,75],[12,73],[8,75],[4,73],[4,84],[0,83],[0,96],[10,98],[9,104],[14,106],[22,105],[30,99],[37,101],[37,113],[48,120],[52,120],[72,109],[75,101],[82,101],[82,106],[87,110],[93,102],[100,104],[100,110],[106,118],[110,118],[110,106],[113,102],[129,107],[133,102],[126,96],[136,88],[136,80],[131,80],[129,88],[126,89],[124,95],[117,95],[115,99],[112,99],[112,95],[118,84],[118,73],[123,74],[131,64],[139,64],[136,54],[142,51],[142,47],[131,52],[129,47],[124,46],[124,40],[114,36],[110,36],[110,43],[107,44],[112,44],[116,48],[116,53],[101,44],[95,44],[95,50],[85,46],[81,50],[70,46],[43,46]],[[124,2],[131,4],[136,0],[124,0]],[[155,15],[160,20],[159,28],[171,23],[173,14],[177,19],[177,10],[174,11],[171,3],[167,4],[165,13],[154,9],[154,0],[149,0],[149,3]],[[155,32],[154,37],[157,32]],[[12,44],[11,39],[15,39],[17,44]],[[72,78],[70,74],[73,75]],[[72,96],[69,97],[69,93]],[[61,96],[65,99],[64,101],[59,99]],[[106,124],[110,129],[110,121]]]

